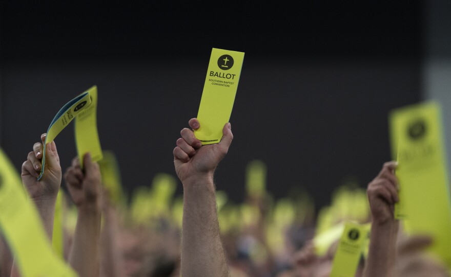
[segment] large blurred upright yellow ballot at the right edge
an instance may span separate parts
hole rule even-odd
[[[398,161],[399,204],[408,234],[429,234],[430,250],[451,265],[451,210],[440,106],[435,102],[389,114],[392,155]]]

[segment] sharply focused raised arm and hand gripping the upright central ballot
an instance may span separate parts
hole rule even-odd
[[[200,127],[191,119],[193,129]],[[230,123],[222,129],[218,144],[201,145],[192,130],[182,129],[174,149],[174,166],[183,184],[181,274],[228,276],[228,265],[219,235],[213,174],[227,154],[233,134]]]

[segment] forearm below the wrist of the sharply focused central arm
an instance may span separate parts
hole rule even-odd
[[[182,276],[228,276],[213,178],[195,179],[183,188]]]

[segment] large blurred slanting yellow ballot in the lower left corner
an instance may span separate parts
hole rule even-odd
[[[71,277],[76,273],[52,250],[34,204],[0,150],[0,229],[23,277]]]

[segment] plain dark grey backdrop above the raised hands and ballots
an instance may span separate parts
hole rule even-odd
[[[319,206],[347,176],[366,186],[391,158],[387,112],[421,99],[423,4],[296,3],[4,1],[0,145],[19,169],[58,109],[96,84],[102,147],[128,190],[148,185],[174,172],[215,47],[246,53],[219,189],[242,200],[254,158],[277,197],[302,186]],[[72,126],[56,143],[67,167]]]

